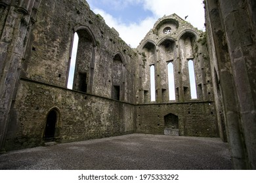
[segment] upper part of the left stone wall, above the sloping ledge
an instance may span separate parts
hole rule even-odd
[[[133,103],[135,52],[101,16],[89,9],[86,1],[42,1],[22,76],[66,87],[75,31],[79,35],[79,45],[74,90],[79,90],[79,73],[86,73],[87,92],[111,98],[116,72],[113,62],[118,53],[124,66],[123,101]]]

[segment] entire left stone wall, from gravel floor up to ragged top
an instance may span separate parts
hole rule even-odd
[[[79,49],[72,91],[66,86],[75,31]],[[7,150],[42,144],[51,108],[58,113],[54,139],[59,142],[134,132],[137,57],[117,34],[86,1],[41,1],[23,62],[15,65],[22,80],[12,89]],[[120,59],[120,71],[114,58]],[[80,90],[80,73],[86,73],[87,90]],[[119,100],[126,103],[111,99],[116,75]]]

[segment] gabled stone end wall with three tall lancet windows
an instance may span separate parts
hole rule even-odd
[[[179,135],[219,137],[206,35],[172,14],[156,22],[137,50],[136,131],[164,134],[168,129],[165,117],[173,114],[179,119]],[[194,63],[197,99],[190,95],[190,59]],[[169,99],[168,63],[173,64],[175,100]],[[151,65],[155,67],[156,101],[150,101]]]

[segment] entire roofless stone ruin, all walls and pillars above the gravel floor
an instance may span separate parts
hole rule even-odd
[[[221,137],[234,169],[255,169],[255,7],[205,1],[206,33],[172,14],[133,49],[85,0],[0,0],[1,151],[127,133]]]

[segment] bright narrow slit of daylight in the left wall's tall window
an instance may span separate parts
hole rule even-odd
[[[70,59],[70,71],[68,73],[68,89],[73,89],[74,74],[75,74],[75,61],[76,61],[78,41],[79,41],[78,35],[77,35],[77,33],[75,33],[74,41],[73,41],[73,48],[72,48],[72,55],[71,55],[71,59]]]

